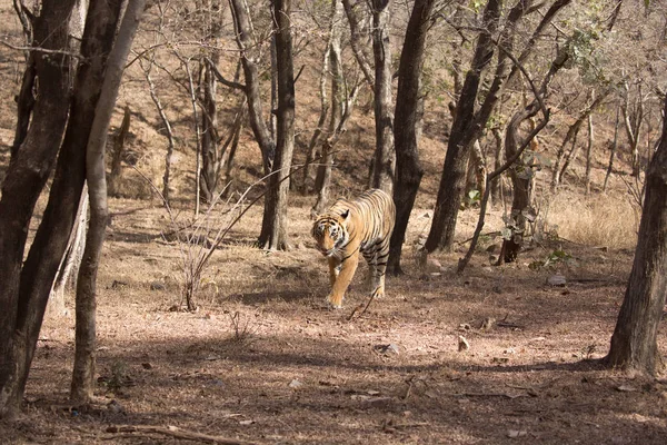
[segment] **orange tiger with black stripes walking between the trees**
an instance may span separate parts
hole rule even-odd
[[[368,264],[371,298],[385,295],[389,239],[395,220],[394,200],[380,189],[366,190],[352,200],[340,198],[317,216],[312,237],[329,263],[331,291],[327,300],[332,308],[342,307],[342,298],[359,265],[359,254]]]

